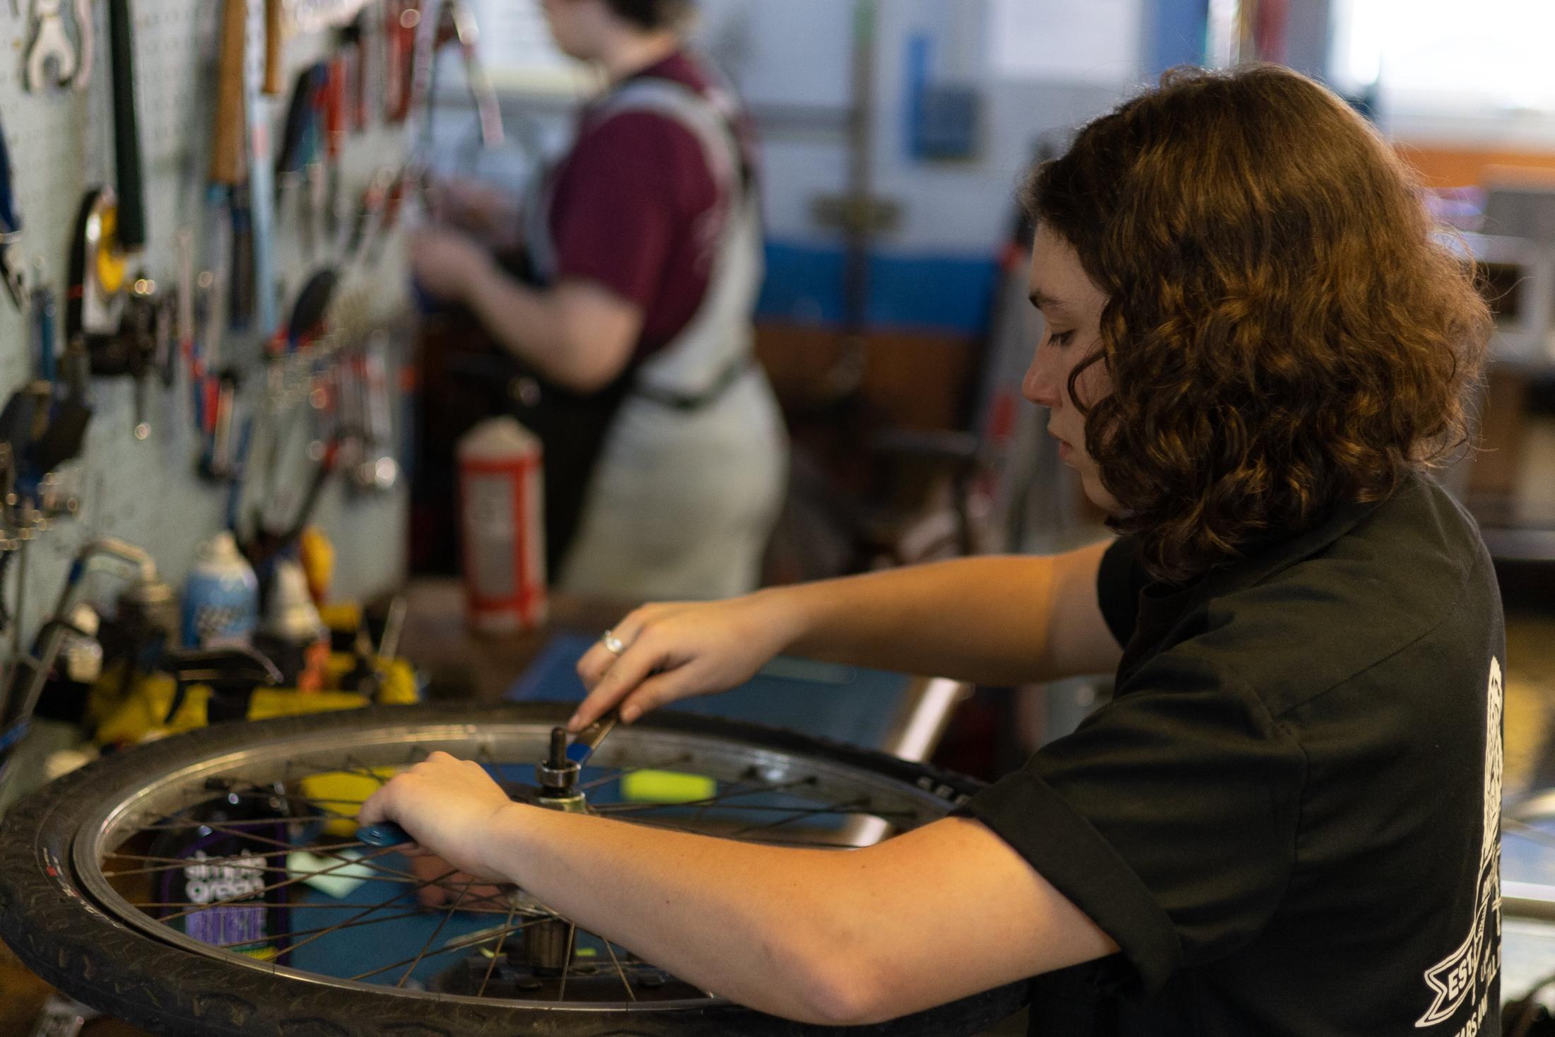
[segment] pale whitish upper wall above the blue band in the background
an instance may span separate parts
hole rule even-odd
[[[994,2],[880,2],[874,177],[877,193],[905,208],[902,227],[882,241],[885,249],[980,253],[998,247],[1034,141],[1104,112],[1140,79],[1143,61],[1116,70],[1112,86],[1001,78],[989,61]],[[765,126],[774,238],[815,246],[837,241],[835,232],[815,224],[810,207],[818,194],[840,193],[847,182],[840,131],[852,93],[852,25],[854,5],[843,0],[704,0],[701,37]],[[919,162],[908,154],[907,58],[916,34],[933,40],[935,79],[984,93],[983,146],[975,160]],[[793,112],[795,106],[804,110]]]

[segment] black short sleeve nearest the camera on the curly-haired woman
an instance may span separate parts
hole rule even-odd
[[[1305,773],[1300,746],[1249,689],[1172,650],[964,813],[1112,936],[1126,989],[1152,992],[1272,916]]]

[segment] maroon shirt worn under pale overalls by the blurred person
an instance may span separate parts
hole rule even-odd
[[[648,76],[703,95],[715,87],[684,51],[633,79]],[[750,162],[750,129],[742,124],[739,132]],[[708,292],[729,201],[697,135],[655,112],[600,118],[594,104],[583,110],[577,143],[554,176],[557,280],[592,281],[641,306],[638,356],[673,342]],[[709,221],[720,222],[709,229]]]

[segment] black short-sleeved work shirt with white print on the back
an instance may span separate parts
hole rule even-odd
[[[1113,698],[972,799],[1121,953],[1033,981],[1042,1037],[1499,1034],[1505,633],[1432,480],[1190,588],[1121,538]]]

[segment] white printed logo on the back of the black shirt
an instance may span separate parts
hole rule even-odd
[[[1485,812],[1474,922],[1459,948],[1426,970],[1426,986],[1435,1001],[1415,1021],[1417,1028],[1445,1023],[1474,1000],[1480,1001],[1477,1021],[1488,1007],[1483,995],[1490,992],[1490,981],[1501,970],[1501,662],[1493,658],[1485,703]]]

